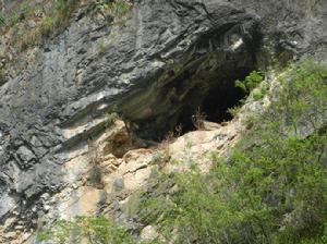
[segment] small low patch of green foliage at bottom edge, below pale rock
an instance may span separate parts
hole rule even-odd
[[[50,229],[40,232],[39,241],[65,243],[133,243],[128,230],[105,217],[77,217],[74,221],[58,220]]]

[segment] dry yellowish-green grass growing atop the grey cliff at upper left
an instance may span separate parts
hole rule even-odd
[[[0,15],[0,27],[1,25],[4,27],[1,29],[3,32],[10,30],[12,33],[11,45],[17,51],[24,51],[61,33],[70,24],[72,14],[82,2],[85,3],[82,0],[44,0],[40,3],[25,1],[10,13]],[[87,0],[86,4],[92,7],[95,2]],[[132,7],[129,0],[114,0],[110,3],[98,4],[102,7],[107,15],[117,20],[125,17]],[[97,8],[90,8],[90,11],[97,11]],[[11,15],[10,20],[5,19],[8,15]],[[31,27],[28,22],[34,22],[35,26]]]

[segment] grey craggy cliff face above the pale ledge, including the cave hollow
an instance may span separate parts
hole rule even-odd
[[[108,25],[82,7],[62,34],[27,51],[28,62],[15,64],[20,72],[0,82],[3,236],[17,225],[35,229],[40,211],[55,215],[52,196],[78,197],[89,187],[77,182],[89,169],[89,142],[104,142],[107,113],[116,110],[129,130],[150,139],[179,123],[189,130],[198,107],[223,121],[243,96],[234,80],[276,57],[327,60],[326,12],[318,0],[137,0],[126,22]],[[114,142],[135,146],[124,133]],[[112,185],[132,191],[143,182],[135,181]],[[89,192],[99,203],[108,194]]]

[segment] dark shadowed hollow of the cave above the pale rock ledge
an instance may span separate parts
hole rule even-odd
[[[238,63],[238,58],[210,73],[194,74],[192,70],[185,70],[160,89],[156,87],[155,96],[152,90],[149,94],[154,102],[149,105],[154,108],[154,114],[147,119],[134,120],[136,126],[133,131],[137,137],[161,142],[172,133],[180,136],[195,131],[198,127],[192,118],[197,111],[204,114],[205,121],[222,123],[232,120],[229,109],[241,105],[241,100],[247,95],[235,87],[235,81],[243,81],[256,69],[252,59]],[[144,107],[135,106],[131,111],[142,114],[140,108]]]

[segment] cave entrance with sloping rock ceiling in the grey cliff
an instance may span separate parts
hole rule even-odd
[[[156,77],[156,83],[132,95],[134,97],[124,105],[126,119],[135,124],[133,132],[156,142],[172,132],[185,134],[198,127],[192,120],[197,110],[206,121],[230,121],[229,109],[240,105],[246,96],[235,87],[235,81],[243,81],[256,70],[253,57],[246,50],[218,52],[167,69]]]

